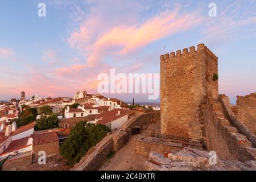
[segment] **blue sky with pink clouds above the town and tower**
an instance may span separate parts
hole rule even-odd
[[[46,4],[46,17],[38,4]],[[217,5],[210,17],[208,5]],[[256,92],[256,1],[0,2],[0,100],[97,92],[97,75],[159,73],[159,56],[204,43],[218,60],[219,92]],[[115,95],[125,101],[143,94]],[[159,101],[159,99],[158,99]]]

